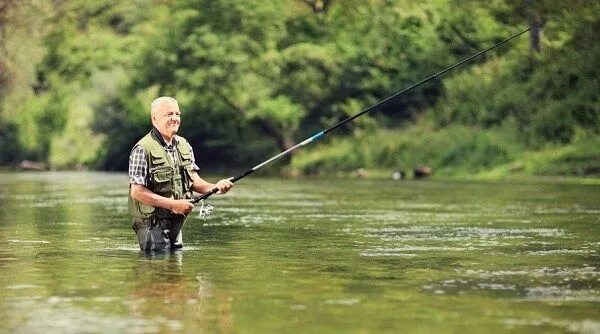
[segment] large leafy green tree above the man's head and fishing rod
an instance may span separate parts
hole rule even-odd
[[[142,52],[134,89],[158,86],[188,113],[253,126],[283,150],[306,129],[355,113],[454,59],[436,33],[450,4],[419,3],[176,2],[164,19],[169,28]],[[428,105],[436,87],[390,108]],[[196,123],[191,136],[230,136],[225,126],[211,127]]]

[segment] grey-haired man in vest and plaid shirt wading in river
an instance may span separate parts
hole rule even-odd
[[[194,208],[192,191],[228,192],[233,183],[216,184],[198,176],[194,152],[177,130],[181,123],[177,100],[159,97],[150,105],[152,130],[129,156],[129,211],[143,251],[183,247],[181,227]]]

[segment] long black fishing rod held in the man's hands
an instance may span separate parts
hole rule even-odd
[[[325,135],[326,135],[326,134],[328,134],[329,132],[331,132],[331,131],[333,131],[333,130],[335,130],[335,129],[339,128],[340,126],[342,126],[342,125],[344,125],[344,124],[346,124],[346,123],[348,123],[348,122],[351,122],[351,121],[353,121],[354,119],[356,119],[356,118],[358,118],[358,117],[360,117],[360,116],[362,116],[362,115],[364,115],[364,114],[366,114],[366,113],[368,113],[368,112],[371,112],[371,111],[373,111],[373,110],[375,110],[375,109],[377,109],[377,108],[381,108],[381,107],[383,107],[383,106],[387,105],[387,104],[388,104],[390,101],[392,101],[393,99],[397,98],[398,96],[400,96],[400,95],[402,95],[402,94],[404,94],[404,93],[406,93],[406,92],[408,92],[408,91],[411,91],[411,90],[413,90],[413,89],[415,89],[415,88],[417,88],[417,87],[419,87],[419,86],[423,85],[424,83],[426,83],[426,82],[428,82],[428,81],[431,81],[431,80],[433,80],[433,79],[436,79],[437,77],[439,77],[439,76],[443,75],[444,73],[446,73],[446,72],[449,72],[449,71],[453,70],[454,68],[456,68],[456,67],[458,67],[458,66],[460,66],[460,65],[462,65],[462,64],[464,64],[464,63],[466,63],[466,62],[468,62],[468,61],[470,61],[470,60],[472,60],[473,58],[477,58],[477,57],[481,56],[482,54],[484,54],[484,53],[486,53],[486,52],[488,52],[488,51],[490,51],[490,50],[493,50],[493,49],[495,49],[495,48],[499,47],[500,45],[502,45],[502,44],[504,44],[504,43],[506,43],[506,42],[509,42],[509,41],[511,41],[511,40],[513,40],[513,39],[515,39],[515,38],[517,38],[517,37],[519,37],[519,36],[523,35],[524,33],[526,33],[526,32],[528,32],[528,31],[530,31],[532,28],[533,28],[533,27],[529,27],[529,28],[527,28],[527,29],[525,29],[525,30],[523,30],[523,31],[521,31],[521,32],[519,32],[519,33],[517,33],[517,34],[515,34],[515,35],[513,35],[513,36],[511,36],[511,37],[509,37],[509,38],[507,38],[507,39],[505,39],[505,40],[503,40],[503,41],[501,41],[501,42],[498,42],[498,43],[496,43],[496,44],[494,44],[494,45],[490,46],[489,48],[487,48],[487,49],[485,49],[485,50],[479,51],[479,52],[477,52],[476,54],[474,54],[474,55],[472,55],[472,56],[470,56],[470,57],[467,57],[467,58],[465,58],[465,59],[463,59],[463,60],[459,61],[458,63],[456,63],[456,64],[454,64],[454,65],[452,65],[452,66],[449,66],[449,67],[447,67],[447,68],[445,68],[445,69],[443,69],[443,70],[441,70],[441,71],[439,71],[439,72],[437,72],[437,73],[433,74],[432,76],[430,76],[430,77],[427,77],[427,78],[425,78],[425,79],[423,79],[423,80],[421,80],[421,81],[419,81],[419,82],[417,82],[417,83],[415,83],[415,84],[412,84],[411,86],[408,86],[408,87],[406,87],[405,89],[403,89],[403,90],[401,90],[401,91],[397,92],[396,94],[394,94],[394,95],[391,95],[391,96],[389,96],[389,97],[387,97],[387,98],[385,98],[385,99],[383,99],[383,100],[381,100],[381,101],[379,101],[379,102],[375,103],[374,105],[372,105],[372,106],[368,107],[367,109],[365,109],[365,110],[363,110],[363,111],[361,111],[361,112],[359,112],[359,113],[357,113],[357,114],[355,114],[355,115],[353,115],[353,116],[350,116],[350,117],[348,117],[348,118],[346,118],[346,119],[344,119],[344,120],[340,121],[339,123],[337,123],[337,124],[334,124],[334,125],[332,125],[331,127],[329,127],[329,128],[327,128],[327,129],[325,129],[325,130],[321,131],[321,132],[318,132],[318,133],[316,133],[316,134],[315,134],[315,135],[313,135],[312,137],[309,137],[308,139],[304,140],[303,142],[301,142],[301,143],[299,143],[299,144],[296,144],[296,145],[294,145],[294,146],[292,146],[292,147],[288,148],[287,150],[285,150],[285,151],[283,151],[283,152],[281,152],[281,153],[279,153],[279,154],[277,154],[277,155],[273,156],[272,158],[269,158],[269,159],[265,160],[264,162],[261,162],[260,164],[258,164],[258,165],[256,165],[256,166],[254,166],[254,167],[252,167],[252,168],[250,168],[250,169],[248,169],[247,171],[243,172],[242,174],[240,174],[240,175],[238,175],[238,176],[235,176],[235,177],[232,177],[232,178],[230,179],[230,180],[231,180],[231,182],[236,182],[236,181],[238,181],[238,180],[241,180],[241,179],[243,179],[244,177],[246,177],[246,176],[248,176],[248,175],[250,175],[250,174],[252,174],[252,173],[256,172],[256,171],[257,171],[257,170],[259,170],[259,169],[261,169],[262,167],[264,167],[264,166],[266,166],[266,165],[270,164],[271,162],[273,162],[273,161],[275,161],[275,160],[278,160],[279,158],[281,158],[281,157],[284,157],[284,156],[286,156],[286,155],[290,154],[291,152],[295,151],[296,149],[298,149],[298,148],[300,148],[300,147],[302,147],[302,146],[306,146],[306,145],[308,145],[308,144],[310,144],[310,143],[312,143],[312,142],[315,142],[315,141],[318,141],[318,140],[322,139],[323,137],[325,137]],[[198,202],[200,202],[200,201],[202,201],[202,200],[205,200],[205,199],[207,199],[208,197],[210,197],[210,196],[214,195],[214,194],[215,194],[217,191],[219,191],[219,189],[218,189],[218,188],[214,188],[214,189],[212,189],[211,191],[209,191],[209,192],[207,192],[207,193],[204,193],[204,194],[202,194],[201,196],[194,197],[194,198],[191,200],[191,202],[192,202],[192,203],[198,203]]]

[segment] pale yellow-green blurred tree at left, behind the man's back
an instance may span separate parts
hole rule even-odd
[[[96,115],[128,81],[122,73],[139,44],[136,25],[152,13],[145,1],[53,2],[43,34],[45,55],[26,122],[27,150],[53,168],[95,167],[105,134],[95,133]],[[152,4],[152,3],[151,3]]]

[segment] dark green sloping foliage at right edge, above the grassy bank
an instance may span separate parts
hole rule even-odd
[[[574,11],[600,13],[599,7]],[[521,43],[510,57],[492,59],[449,78],[444,82],[444,98],[429,117],[442,126],[458,122],[484,127],[513,117],[519,120],[521,139],[532,148],[547,142],[569,143],[579,129],[598,133],[600,48],[592,42],[595,33],[590,29],[598,24],[597,18],[583,19],[563,27],[568,38],[550,31],[553,40],[546,42],[548,50],[540,55],[527,56]],[[558,27],[548,27],[552,28]],[[585,43],[590,44],[584,47]]]

